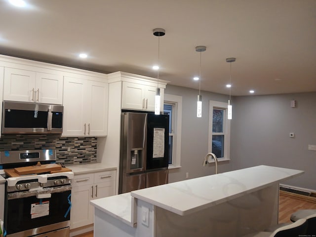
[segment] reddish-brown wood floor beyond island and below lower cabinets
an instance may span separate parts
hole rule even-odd
[[[316,198],[307,198],[301,195],[292,195],[280,192],[278,222],[291,222],[291,214],[300,209],[316,209]],[[77,237],[93,237],[93,232],[89,232]]]

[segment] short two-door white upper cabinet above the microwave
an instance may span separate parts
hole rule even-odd
[[[6,67],[3,100],[62,104],[63,77]]]

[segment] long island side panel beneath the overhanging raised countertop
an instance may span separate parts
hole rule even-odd
[[[277,224],[278,183],[180,216],[156,207],[155,237],[239,237]]]

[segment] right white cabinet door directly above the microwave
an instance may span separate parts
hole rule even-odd
[[[47,104],[63,103],[63,77],[47,73],[36,73],[36,101]]]

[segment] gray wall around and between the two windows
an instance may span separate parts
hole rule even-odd
[[[167,85],[166,94],[182,96],[182,138],[181,168],[169,170],[169,182],[196,178],[215,173],[213,165],[202,166],[208,149],[208,111],[209,100],[227,102],[228,96],[201,91],[202,118],[197,118],[198,90],[180,86]],[[220,162],[218,172],[232,170],[230,162]]]

